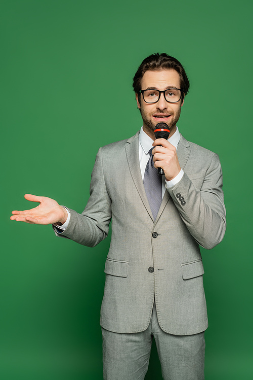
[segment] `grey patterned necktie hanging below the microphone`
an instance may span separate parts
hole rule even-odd
[[[151,148],[150,151],[148,152],[150,157],[146,165],[143,184],[144,184],[149,205],[150,205],[150,208],[155,220],[158,214],[158,210],[161,205],[161,201],[162,201],[162,187],[161,187],[162,176],[160,176],[157,173],[157,169],[154,167],[153,155],[152,155],[153,149],[154,147]]]

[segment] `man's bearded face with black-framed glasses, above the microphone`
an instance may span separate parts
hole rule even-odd
[[[146,71],[141,81],[142,90],[152,88],[162,91],[173,87],[180,88],[179,74],[173,69]],[[181,99],[178,103],[168,103],[163,94],[161,94],[159,101],[153,104],[146,103],[142,95],[141,102],[139,102],[138,94],[136,94],[136,100],[143,119],[143,129],[151,139],[155,139],[154,130],[157,123],[166,123],[171,131],[170,135],[176,131],[176,123],[184,100]]]

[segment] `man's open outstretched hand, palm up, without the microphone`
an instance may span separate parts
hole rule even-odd
[[[25,194],[25,199],[39,202],[39,205],[30,210],[13,211],[11,220],[33,224],[64,224],[66,222],[67,212],[56,200],[32,194]]]

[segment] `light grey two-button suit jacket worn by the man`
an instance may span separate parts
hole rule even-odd
[[[177,154],[184,176],[166,190],[154,221],[141,177],[138,134],[99,149],[88,204],[82,214],[70,210],[67,229],[57,234],[94,247],[112,221],[103,328],[145,330],[155,297],[162,330],[195,334],[207,328],[199,245],[215,247],[226,229],[219,157],[181,135]]]

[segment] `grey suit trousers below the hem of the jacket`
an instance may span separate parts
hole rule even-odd
[[[153,338],[164,380],[204,379],[204,332],[172,335],[160,328],[155,304],[149,327],[120,334],[102,328],[104,380],[143,380]]]

